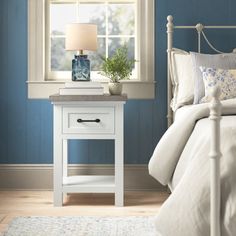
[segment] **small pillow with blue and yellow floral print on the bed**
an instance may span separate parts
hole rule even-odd
[[[205,85],[205,96],[201,99],[201,103],[210,101],[210,92],[216,86],[221,88],[220,100],[236,97],[236,70],[223,70],[202,66],[200,70]]]

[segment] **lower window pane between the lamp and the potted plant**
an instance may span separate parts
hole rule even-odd
[[[96,52],[86,52],[91,63],[91,71],[101,70],[102,59],[101,56],[106,56],[106,39],[98,38],[98,49]]]

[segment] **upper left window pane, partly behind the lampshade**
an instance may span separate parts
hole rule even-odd
[[[65,34],[65,26],[76,22],[76,4],[51,4],[51,34]]]

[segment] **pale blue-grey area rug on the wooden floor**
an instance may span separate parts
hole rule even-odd
[[[17,217],[4,236],[156,236],[154,217]]]

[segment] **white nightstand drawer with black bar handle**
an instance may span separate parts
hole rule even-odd
[[[114,133],[114,107],[64,107],[63,133]]]

